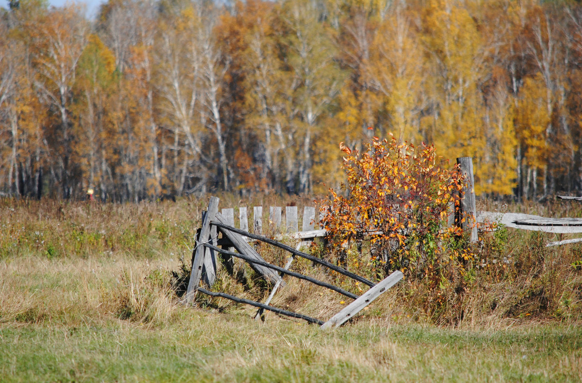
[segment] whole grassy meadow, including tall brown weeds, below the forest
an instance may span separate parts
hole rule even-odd
[[[257,322],[225,300],[178,303],[171,271],[199,225],[187,211],[203,205],[5,201],[0,381],[582,381],[580,247],[512,237],[519,275],[475,276],[459,321],[419,310],[402,283],[321,331],[271,313]],[[226,278],[221,288],[266,293]],[[291,281],[274,304],[319,318],[342,307]]]

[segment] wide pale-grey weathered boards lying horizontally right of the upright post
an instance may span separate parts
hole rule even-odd
[[[477,214],[477,221],[496,222],[508,228],[546,233],[582,233],[582,226],[580,226],[582,219],[580,218],[545,218],[532,214],[480,211]]]

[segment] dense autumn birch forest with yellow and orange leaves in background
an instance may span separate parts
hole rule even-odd
[[[582,193],[582,6],[531,0],[10,1],[0,192],[318,193],[340,141],[473,157],[477,193]],[[372,129],[368,129],[371,127]]]

